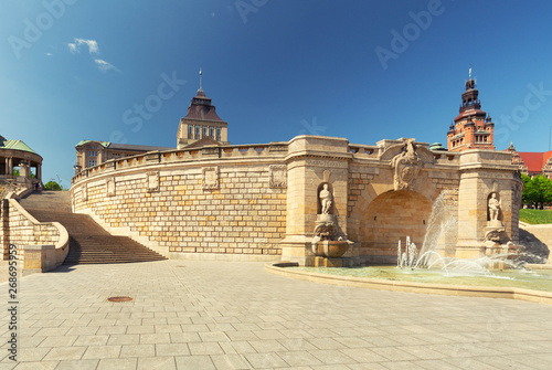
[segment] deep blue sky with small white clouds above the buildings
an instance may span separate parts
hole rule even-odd
[[[513,140],[520,151],[543,151],[552,125],[551,8],[2,0],[0,135],[24,140],[44,158],[44,180],[59,176],[67,187],[82,139],[176,147],[201,67],[232,144],[301,134],[446,144],[471,65],[497,148]]]

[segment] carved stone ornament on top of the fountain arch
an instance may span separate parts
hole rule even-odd
[[[422,166],[422,160],[416,154],[414,139],[406,139],[402,152],[391,160],[395,190],[412,190]]]

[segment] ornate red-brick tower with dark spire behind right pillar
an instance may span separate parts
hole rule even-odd
[[[492,136],[495,124],[485,110],[481,110],[481,102],[478,99],[479,91],[476,82],[471,78],[466,82],[466,91],[461,94],[460,114],[450,124],[447,133],[447,149],[450,151],[464,151],[468,149],[495,150]]]

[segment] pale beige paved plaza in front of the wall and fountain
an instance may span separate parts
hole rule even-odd
[[[8,283],[0,284],[8,306]],[[0,369],[551,369],[552,306],[294,281],[258,263],[63,266],[19,281]],[[109,303],[130,296],[130,303]]]

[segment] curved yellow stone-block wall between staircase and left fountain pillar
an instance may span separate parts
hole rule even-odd
[[[74,179],[74,212],[170,258],[275,260],[286,234],[286,152],[208,147],[107,162]]]

